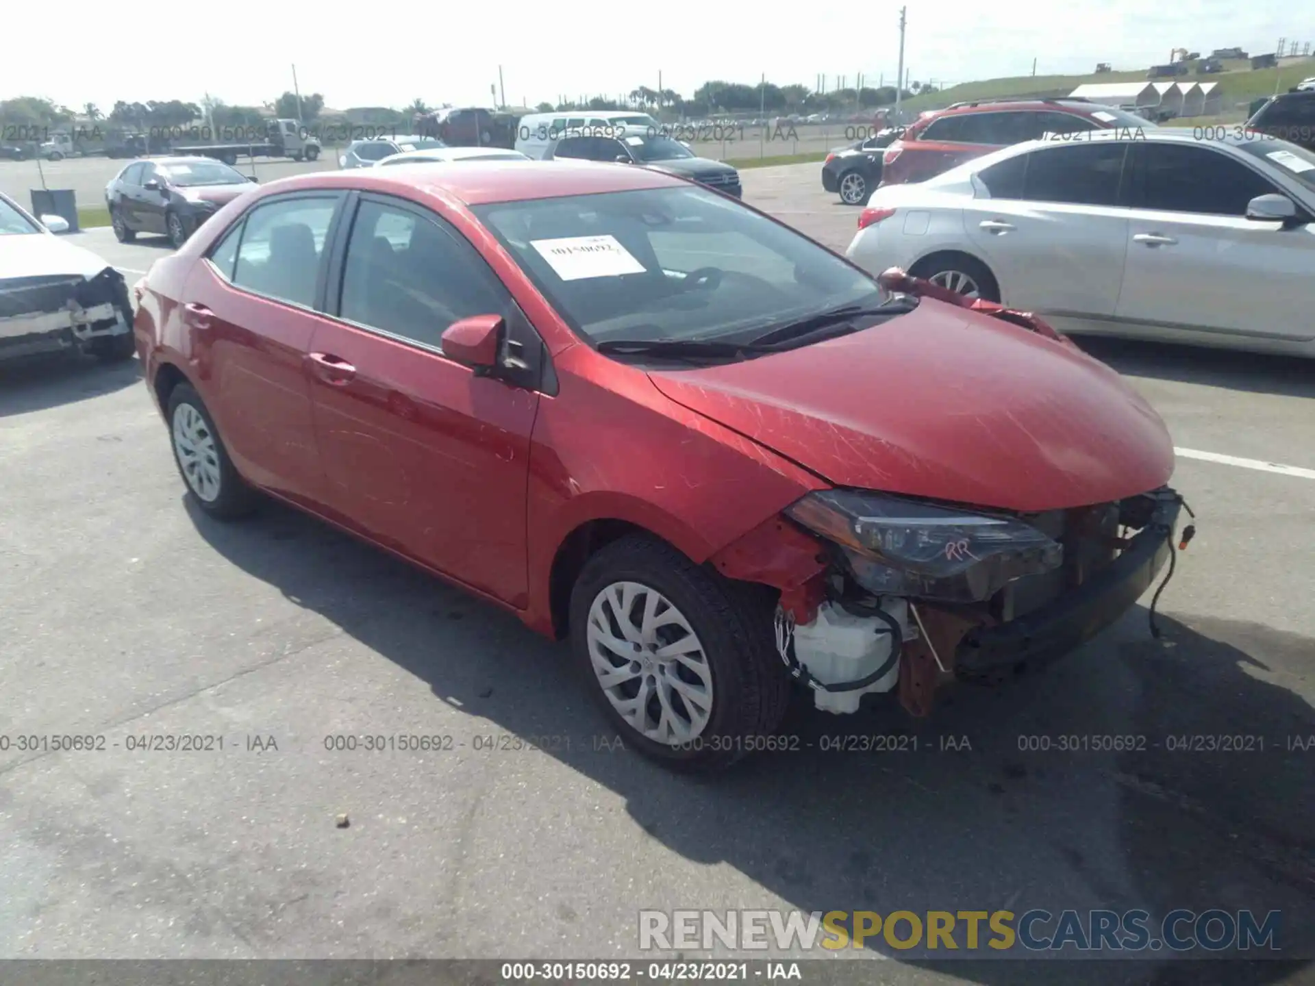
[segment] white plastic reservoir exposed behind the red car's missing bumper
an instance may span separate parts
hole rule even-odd
[[[917,632],[909,626],[909,605],[903,599],[886,597],[881,601],[881,610],[898,624],[898,638],[885,621],[855,615],[834,602],[822,603],[811,623],[796,624],[794,659],[822,684],[860,681],[889,663],[889,669],[880,678],[861,689],[814,689],[818,709],[856,713],[859,698],[868,692],[889,692],[899,681],[901,644],[915,638]]]

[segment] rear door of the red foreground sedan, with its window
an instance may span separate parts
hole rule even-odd
[[[316,191],[262,200],[196,264],[180,298],[197,387],[238,471],[316,510],[325,479],[306,354],[343,199]]]

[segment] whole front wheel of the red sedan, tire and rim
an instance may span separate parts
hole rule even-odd
[[[571,648],[627,744],[719,770],[765,745],[789,702],[775,599],[643,535],[608,544],[571,593]]]

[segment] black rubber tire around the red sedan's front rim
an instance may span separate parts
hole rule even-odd
[[[709,719],[694,743],[644,736],[608,699],[586,638],[594,598],[619,581],[656,589],[698,636],[713,681]],[[761,748],[785,715],[790,677],[776,651],[776,601],[765,586],[723,578],[668,544],[627,535],[593,555],[571,592],[571,649],[585,688],[627,745],[679,770],[721,770]],[[655,680],[655,678],[654,678]]]

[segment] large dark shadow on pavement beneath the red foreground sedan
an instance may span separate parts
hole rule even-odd
[[[1016,947],[1009,958],[980,949],[989,957],[931,961],[944,953],[901,951],[881,936],[863,947],[999,986],[1258,986],[1310,972],[1315,711],[1295,692],[1310,680],[1310,639],[1161,615],[1155,640],[1137,607],[1045,672],[1002,689],[951,690],[927,720],[888,701],[830,716],[801,699],[782,730],[793,749],[692,777],[614,747],[567,647],[513,615],[288,507],[220,525],[188,506],[229,561],[426,681],[438,699],[498,731],[571,738],[544,752],[622,797],[648,839],[696,864],[732,866],[763,889],[735,906],[771,897],[805,912],[1144,908],[1152,932],[1174,907],[1249,908],[1260,919],[1278,910],[1282,962],[1147,952],[1136,961],[1027,961]],[[876,736],[894,739],[868,741]],[[1240,749],[1218,752],[1211,738],[1235,738],[1227,745]],[[1294,738],[1308,738],[1310,749],[1289,748]],[[634,906],[713,904],[642,890]],[[961,926],[953,937],[963,954]]]

